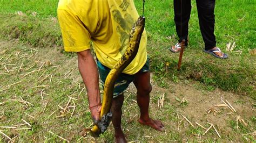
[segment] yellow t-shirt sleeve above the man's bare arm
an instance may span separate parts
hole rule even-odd
[[[78,16],[70,11],[58,9],[58,22],[66,52],[90,49],[91,35]]]

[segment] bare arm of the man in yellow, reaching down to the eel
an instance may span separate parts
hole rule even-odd
[[[78,68],[87,90],[91,116],[96,121],[100,119],[101,110],[98,68],[90,49],[77,52],[77,56]]]

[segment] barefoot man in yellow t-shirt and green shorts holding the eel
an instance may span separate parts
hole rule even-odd
[[[66,52],[76,52],[78,69],[83,78],[94,123],[100,119],[102,108],[99,94],[99,75],[105,82],[110,69],[124,54],[129,42],[129,33],[139,15],[132,0],[60,0],[58,20]],[[164,125],[149,116],[150,72],[146,52],[146,31],[134,60],[118,77],[111,106],[114,139],[126,142],[121,128],[124,91],[131,82],[137,88],[137,103],[140,109],[140,124],[163,131]],[[91,43],[97,61],[91,54]]]

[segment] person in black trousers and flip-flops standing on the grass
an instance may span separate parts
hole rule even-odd
[[[214,35],[215,24],[215,0],[197,0],[197,11],[201,35],[203,37],[205,48],[204,52],[215,56],[216,58],[226,59],[228,55],[221,52],[216,46]],[[185,40],[185,46],[188,45],[188,21],[191,13],[191,0],[173,0],[174,22],[179,41],[170,48],[173,53],[181,50],[181,41]]]

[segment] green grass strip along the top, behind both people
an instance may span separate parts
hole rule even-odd
[[[135,1],[135,3],[141,14],[142,1]],[[161,81],[159,82],[161,87],[166,87],[163,77],[174,82],[192,78],[205,83],[208,90],[218,87],[256,98],[253,63],[255,56],[248,54],[248,49],[255,48],[253,41],[256,40],[254,36],[256,14],[251,12],[254,10],[255,2],[238,0],[231,3],[230,1],[216,2],[217,45],[223,51],[228,42],[235,42],[237,45],[233,52],[227,52],[230,55],[227,60],[215,59],[201,52],[204,43],[199,30],[196,3],[192,1],[192,5],[190,45],[186,49],[181,71],[177,72],[178,54],[172,54],[167,49],[177,42],[172,1],[146,1],[146,30],[149,39],[147,49],[152,61],[151,70],[157,75],[154,79]],[[59,26],[51,18],[56,17],[57,1],[26,1],[25,4],[22,1],[11,1],[11,3],[1,1],[0,7],[2,7],[0,26],[3,37],[18,38],[36,47],[63,47]],[[28,16],[18,17],[9,14],[17,10],[24,11]],[[32,11],[36,11],[38,15],[31,16]],[[241,53],[237,53],[238,50]],[[167,62],[170,63],[168,67],[166,67]],[[166,72],[166,68],[169,72]]]

